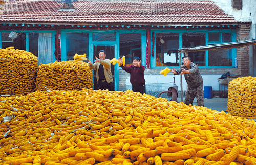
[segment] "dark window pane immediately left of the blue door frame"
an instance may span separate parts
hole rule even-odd
[[[67,33],[67,60],[74,60],[74,55],[77,53],[88,55],[88,33]],[[89,55],[87,56],[89,58]]]

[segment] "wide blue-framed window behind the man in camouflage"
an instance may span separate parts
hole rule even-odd
[[[211,45],[211,44],[219,44],[219,43],[225,43],[225,42],[235,42],[236,41],[236,31],[233,29],[222,29],[222,30],[158,30],[153,29],[151,30],[151,40],[154,38],[154,42],[151,42],[151,50],[153,48],[154,51],[154,57],[151,56],[150,62],[151,62],[151,68],[165,68],[165,66],[159,66],[159,64],[156,63],[157,58],[159,57],[158,48],[156,44],[161,43],[161,41],[158,41],[158,34],[162,35],[162,39],[164,40],[164,34],[168,36],[170,33],[176,33],[179,34],[179,49],[181,48],[188,48],[192,46],[201,46],[201,45]],[[193,35],[199,36],[200,34],[200,42],[193,41]],[[154,36],[153,36],[154,35]],[[189,41],[190,46],[185,45],[184,41],[185,39],[189,38],[189,35],[191,36],[191,39]],[[189,40],[189,39],[188,39]],[[164,40],[164,42],[166,42]],[[154,44],[154,45],[153,45]],[[176,43],[177,44],[177,43]],[[177,47],[177,45],[168,46],[167,49]],[[176,48],[177,49],[177,48]],[[152,52],[151,52],[152,53]],[[163,54],[166,52],[163,52]],[[219,53],[219,54],[218,54]],[[157,56],[158,55],[158,56]],[[236,58],[236,49],[230,49],[230,50],[219,50],[218,52],[214,51],[202,51],[202,52],[196,52],[193,53],[192,59],[195,60],[195,63],[199,64],[200,68],[234,68],[234,58]],[[184,54],[182,53],[182,57],[184,57]],[[195,58],[194,58],[195,57]],[[216,60],[218,58],[218,60]],[[220,60],[220,58],[222,60]],[[216,62],[217,61],[217,62]],[[175,61],[176,62],[176,61]],[[172,67],[175,67],[174,64],[172,64]],[[167,65],[168,67],[168,65]],[[178,68],[179,65],[176,66]]]

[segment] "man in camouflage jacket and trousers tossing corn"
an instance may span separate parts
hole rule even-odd
[[[181,65],[179,70],[173,69],[172,72],[175,75],[184,74],[187,82],[187,92],[185,98],[185,104],[193,104],[193,100],[197,97],[197,105],[204,106],[204,89],[203,78],[200,75],[198,65],[191,62],[190,57],[183,58],[184,65]]]

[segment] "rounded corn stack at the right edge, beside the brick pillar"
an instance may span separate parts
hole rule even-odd
[[[239,77],[228,84],[228,112],[233,115],[255,119],[256,78]]]

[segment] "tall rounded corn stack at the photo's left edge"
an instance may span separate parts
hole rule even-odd
[[[26,95],[35,91],[37,57],[9,47],[0,49],[0,94]]]

